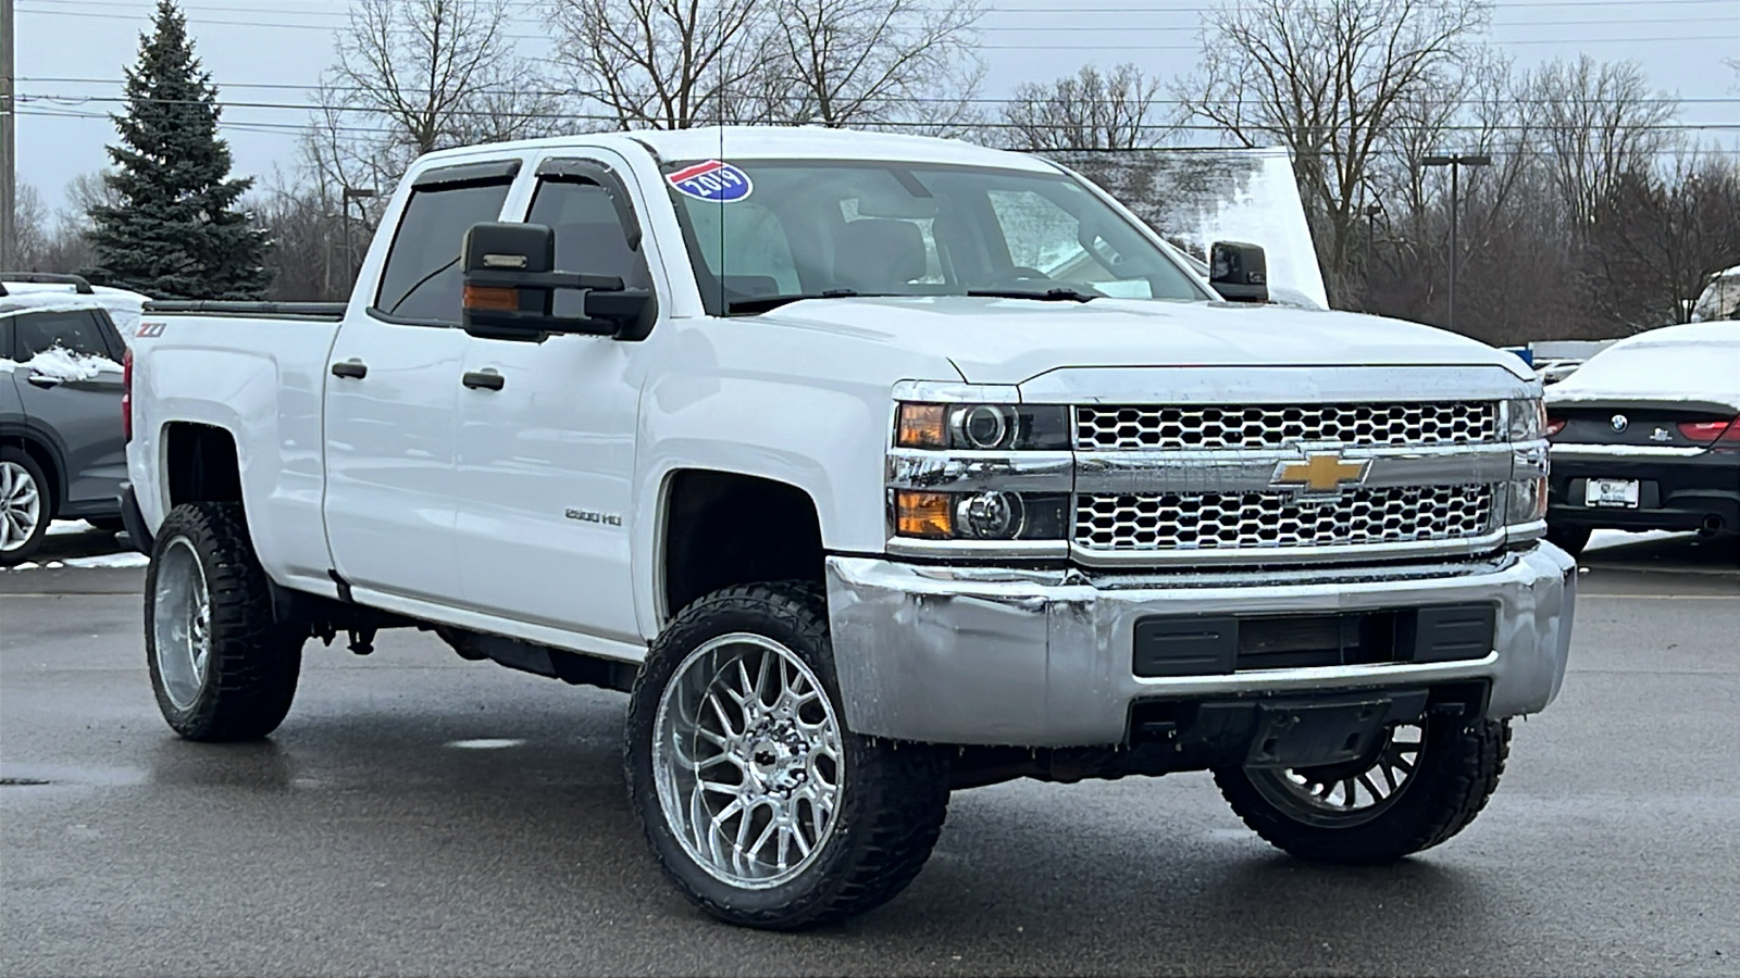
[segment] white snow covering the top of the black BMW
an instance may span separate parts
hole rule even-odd
[[[1740,322],[1696,322],[1639,332],[1547,388],[1549,404],[1703,400],[1740,411]]]

